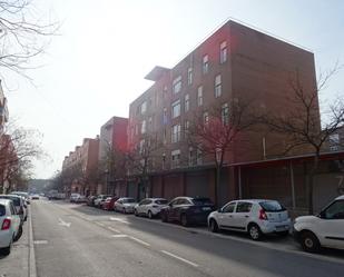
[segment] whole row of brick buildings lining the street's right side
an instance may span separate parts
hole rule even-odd
[[[187,138],[199,115],[207,123],[216,108],[227,125],[233,103],[243,99],[256,110],[287,117],[288,110],[299,108],[289,101],[295,72],[305,93],[316,90],[311,51],[235,21],[226,22],[174,68],[155,67],[146,76],[153,86],[130,103],[129,117],[111,118],[100,128],[100,136],[83,139],[65,157],[62,172],[81,165],[79,170],[89,180],[69,178],[69,191],[138,199],[208,196],[218,205],[234,198],[274,198],[302,211],[307,205],[308,147],[286,157],[282,154],[288,146],[287,136],[264,127],[245,130],[226,149],[216,188],[214,155],[190,146]],[[314,128],[321,129],[317,97],[312,109]],[[315,178],[315,209],[344,186],[342,138],[340,133],[331,138],[333,144],[324,149]],[[114,154],[115,167],[109,154]],[[95,168],[98,179],[91,178]]]

